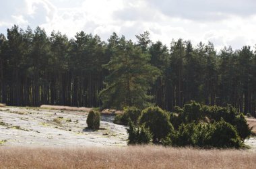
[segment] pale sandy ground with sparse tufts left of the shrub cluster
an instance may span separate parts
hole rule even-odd
[[[126,146],[123,125],[102,115],[98,131],[87,127],[87,112],[0,107],[0,145],[7,146]]]

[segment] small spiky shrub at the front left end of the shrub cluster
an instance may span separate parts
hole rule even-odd
[[[149,144],[152,140],[152,134],[149,129],[146,129],[144,125],[135,127],[133,122],[129,122],[128,144]]]

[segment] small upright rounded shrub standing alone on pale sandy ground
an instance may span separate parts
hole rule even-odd
[[[100,129],[100,112],[90,111],[86,123],[89,129]]]

